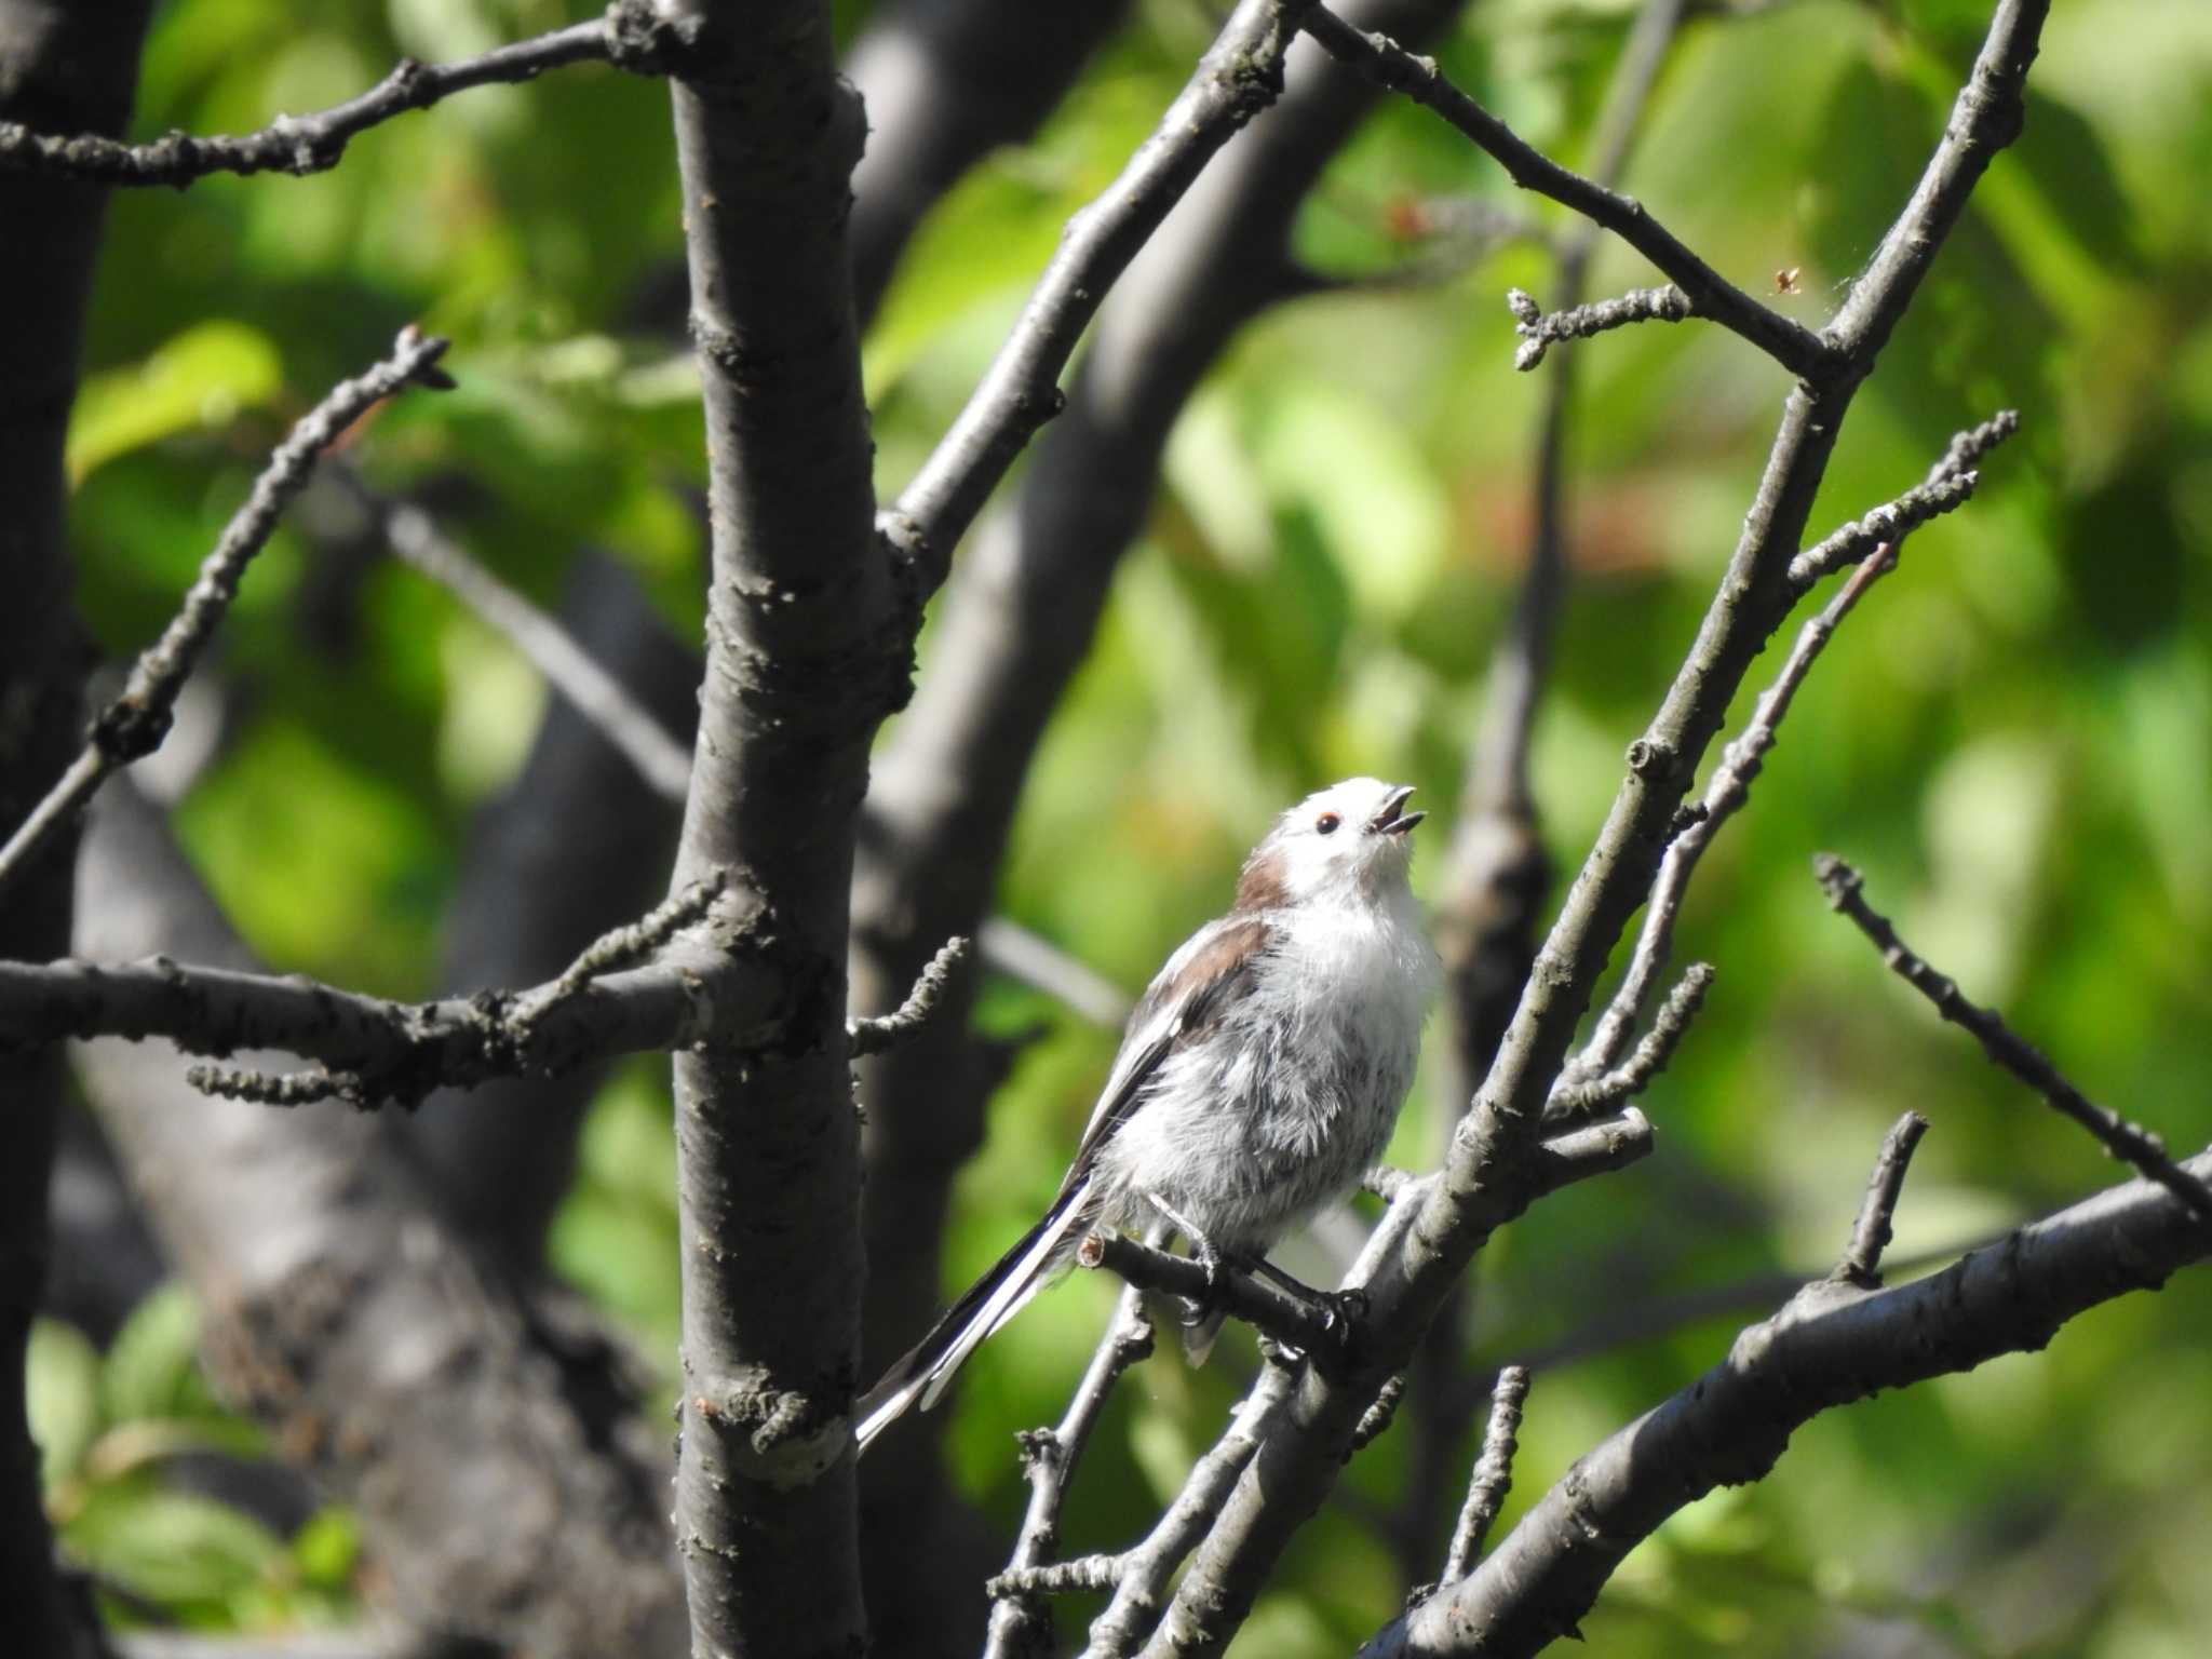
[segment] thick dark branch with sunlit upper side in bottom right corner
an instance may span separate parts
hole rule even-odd
[[[2190,1161],[2212,1177],[2212,1155]],[[1893,1290],[1816,1281],[1728,1358],[1582,1458],[1467,1579],[1378,1632],[1363,1659],[1533,1655],[1668,1515],[1763,1478],[1816,1413],[2000,1354],[2042,1349],[2075,1314],[2154,1290],[2212,1250],[2163,1188],[2132,1181]]]

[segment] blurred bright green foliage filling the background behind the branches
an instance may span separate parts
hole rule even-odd
[[[356,93],[400,53],[453,58],[593,9],[175,0],[137,128],[259,126]],[[865,7],[845,11],[865,22]],[[1575,161],[1630,11],[1486,0],[1442,58]],[[1942,131],[1986,11],[1805,0],[1699,15],[1626,186],[1745,288],[1796,270],[1794,292],[1770,299],[1818,325]],[[922,230],[867,341],[885,493],[1208,33],[1203,4],[1141,7],[1040,139],[980,168]],[[1721,980],[1646,1102],[1661,1150],[1544,1203],[1484,1254],[1471,1369],[1595,1343],[1537,1376],[1504,1524],[1765,1307],[1604,1334],[1674,1296],[1823,1270],[1898,1110],[1936,1119],[1900,1261],[2112,1179],[1825,914],[1816,849],[1858,860],[1907,938],[2002,1002],[2090,1095],[2177,1148],[2212,1137],[2212,7],[2070,0],[2033,86],[2026,137],[1854,407],[1816,529],[1916,482],[1995,407],[2020,407],[2024,431],[1854,617],[1708,858],[1681,951]],[[1409,226],[1442,199],[1559,226],[1506,197],[1455,135],[1391,104],[1310,204],[1301,252],[1385,270],[1420,252]],[[157,630],[283,422],[409,319],[453,336],[462,389],[380,411],[358,462],[458,495],[449,529],[509,582],[553,597],[575,553],[604,546],[697,633],[686,491],[703,460],[670,301],[679,212],[659,86],[586,69],[471,93],[361,137],[332,175],[137,192],[108,226],[71,438],[82,602],[108,653]],[[1267,816],[1347,772],[1422,787],[1440,823],[1418,880],[1433,880],[1528,540],[1540,387],[1511,372],[1502,292],[1544,299],[1551,281],[1546,257],[1517,246],[1422,288],[1285,307],[1237,343],[1175,434],[1150,533],[1037,761],[1011,916],[1137,987],[1223,905]],[[1593,270],[1595,294],[1646,281],[1617,246]],[[1785,383],[1701,325],[1566,349],[1582,372],[1575,586],[1537,783],[1571,872],[1734,540]],[[307,507],[223,633],[212,672],[237,723],[181,827],[272,962],[420,993],[460,832],[520,761],[542,695],[411,573],[336,566]],[[947,1283],[1051,1192],[1115,1042],[1006,984],[982,1018],[1042,1020],[1048,1035],[960,1183]],[[1436,1139],[1436,1102],[1416,1102],[1407,1164]],[[677,1316],[670,1164],[666,1077],[630,1066],[553,1239],[562,1270],[659,1356]],[[1077,1276],[964,1380],[958,1480],[1000,1522],[1022,1495],[1009,1431],[1057,1413],[1106,1305],[1108,1287]],[[40,1334],[62,1540],[195,1624],[321,1617],[349,1571],[343,1520],[272,1540],[159,1480],[159,1447],[237,1433],[161,1323],[177,1307],[153,1305],[106,1358]],[[1829,1413],[1772,1480],[1692,1506],[1644,1546],[1586,1630],[1613,1655],[1796,1655],[1876,1628],[1913,1652],[2201,1652],[2208,1332],[2212,1283],[2183,1274],[2042,1356]],[[1084,1469],[1073,1548],[1117,1548],[1144,1524],[1250,1365],[1248,1345],[1225,1343],[1203,1374],[1161,1358],[1124,1387]],[[131,1453],[133,1438],[155,1451]],[[1356,1464],[1243,1652],[1343,1652],[1398,1606],[1376,1515],[1407,1455],[1400,1425]]]

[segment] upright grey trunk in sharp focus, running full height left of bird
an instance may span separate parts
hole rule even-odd
[[[865,1646],[852,1391],[860,1124],[845,1033],[854,832],[911,688],[918,588],[874,533],[852,307],[860,100],[825,0],[657,0],[708,440],[706,679],[670,891],[774,918],[770,1044],[719,1018],[675,1062],[684,1349],[675,1480],[692,1648]],[[721,940],[701,947],[717,953]]]

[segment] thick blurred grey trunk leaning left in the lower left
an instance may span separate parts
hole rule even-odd
[[[128,783],[91,814],[77,914],[88,953],[254,978]],[[584,1332],[482,1270],[387,1119],[201,1099],[161,1046],[91,1042],[75,1068],[199,1296],[210,1378],[358,1509],[374,1599],[546,1659],[675,1652],[661,1436]]]

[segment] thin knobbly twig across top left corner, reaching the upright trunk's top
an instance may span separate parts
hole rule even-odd
[[[639,33],[639,29],[648,33]],[[345,146],[396,115],[465,93],[471,86],[535,80],[566,64],[613,62],[637,73],[659,73],[648,40],[644,0],[608,7],[604,18],[555,29],[535,40],[495,46],[458,64],[418,64],[403,58],[376,86],[316,115],[279,115],[257,133],[192,137],[168,133],[153,144],[119,144],[100,135],[46,135],[0,122],[0,168],[93,179],[97,184],[186,186],[210,173],[290,173],[305,177],[338,166]],[[672,44],[672,42],[670,42]]]

